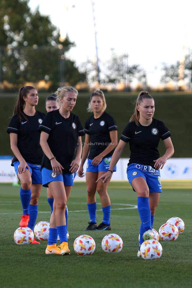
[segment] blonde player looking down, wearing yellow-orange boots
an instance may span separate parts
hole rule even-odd
[[[46,254],[69,254],[66,231],[66,202],[73,185],[73,173],[79,168],[84,129],[79,117],[71,113],[76,104],[78,92],[74,87],[58,88],[56,95],[61,108],[47,113],[39,126],[40,145],[43,149],[43,186],[49,187],[54,198],[53,213]],[[75,148],[76,158],[74,157]],[[61,246],[56,246],[59,235]]]

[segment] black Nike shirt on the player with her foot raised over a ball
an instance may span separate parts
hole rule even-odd
[[[120,137],[124,142],[129,142],[131,156],[129,164],[141,163],[154,167],[153,160],[157,160],[160,155],[158,145],[160,139],[165,140],[171,133],[165,124],[156,119],[152,119],[149,126],[139,126],[135,122],[130,122]]]

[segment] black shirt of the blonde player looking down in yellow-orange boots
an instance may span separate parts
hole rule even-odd
[[[70,174],[70,164],[74,160],[74,152],[79,136],[85,135],[79,117],[70,113],[69,118],[61,116],[58,110],[46,114],[39,131],[49,134],[47,143],[56,160],[64,167],[63,172]],[[52,170],[51,162],[43,154],[42,168]]]

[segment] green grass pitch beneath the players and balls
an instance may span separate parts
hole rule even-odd
[[[162,185],[163,186],[163,185]],[[111,208],[129,208],[118,204],[137,204],[136,193],[127,182],[111,182],[108,187]],[[154,219],[154,229],[159,230],[168,218],[178,216],[185,222],[185,230],[174,242],[161,241],[163,253],[159,260],[137,257],[140,220],[137,209],[112,210],[111,233],[123,240],[120,253],[102,251],[101,241],[105,231],[86,231],[96,243],[90,256],[78,256],[73,242],[89,221],[86,205],[85,183],[75,183],[69,197],[69,248],[67,256],[45,255],[46,241],[40,245],[16,245],[13,234],[19,227],[22,206],[19,187],[0,185],[0,287],[50,288],[50,287],[192,287],[192,190],[164,189]],[[97,195],[97,202],[100,199]],[[114,205],[115,204],[115,205]],[[97,204],[101,209],[101,204]],[[39,199],[37,221],[48,221],[51,213],[43,188]],[[75,212],[79,211],[79,212]],[[97,212],[97,224],[102,222],[102,212]]]

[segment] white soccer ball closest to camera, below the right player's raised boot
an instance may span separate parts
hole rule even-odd
[[[150,239],[141,244],[140,252],[143,259],[154,260],[161,257],[163,249],[157,240]]]

